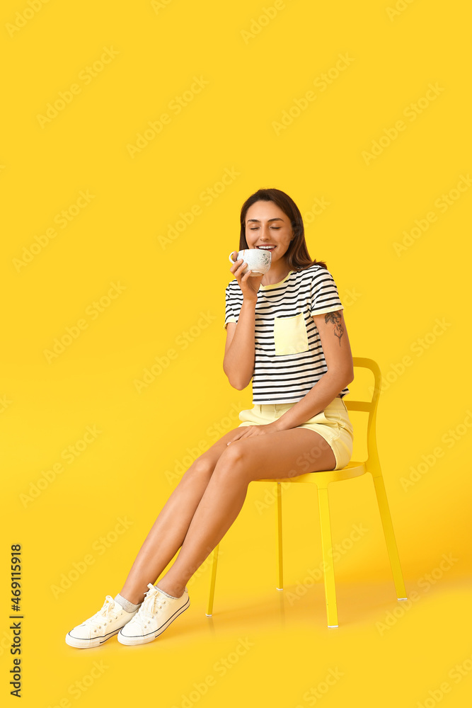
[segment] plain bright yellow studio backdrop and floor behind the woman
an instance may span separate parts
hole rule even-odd
[[[388,0],[32,3],[34,11],[26,0],[1,10],[1,694],[13,704],[8,559],[21,543],[23,706],[431,707],[443,698],[463,706],[472,687],[472,190],[466,181],[451,190],[472,170],[468,8],[458,0],[398,1],[396,14]],[[106,48],[108,64],[87,74]],[[336,72],[340,55],[350,61]],[[195,77],[207,82],[198,93]],[[65,93],[69,103],[38,118],[72,84],[80,91]],[[439,87],[434,98],[430,84]],[[316,98],[305,105],[307,91]],[[187,97],[178,114],[175,96]],[[296,100],[305,105],[299,115]],[[290,125],[277,128],[291,110]],[[129,145],[163,113],[170,121],[132,156]],[[399,120],[404,130],[366,158]],[[221,190],[224,174],[232,177]],[[204,564],[189,583],[190,609],[160,639],[71,649],[66,632],[120,590],[178,470],[251,406],[251,387],[232,389],[222,370],[222,325],[239,211],[260,187],[297,202],[310,255],[338,285],[353,355],[381,366],[379,455],[417,601],[396,600],[369,476],[330,488],[334,541],[352,546],[335,565],[339,628],[326,627],[323,581],[305,582],[321,563],[314,487],[284,491],[277,593],[275,508],[270,484],[258,483],[221,542],[212,619]],[[90,201],[76,210],[81,191]],[[313,210],[316,200],[329,205]],[[74,216],[65,228],[62,210]],[[191,223],[166,243],[180,212]],[[399,251],[404,232],[430,212],[436,220]],[[32,244],[30,262],[18,266]],[[98,312],[93,303],[112,283],[120,294]],[[79,320],[79,336],[48,362],[45,350]],[[165,365],[169,349],[177,355]],[[136,380],[159,358],[161,372],[138,392]],[[369,383],[359,375],[350,398]],[[362,459],[364,421],[351,415],[353,457]],[[87,426],[100,433],[69,464],[62,452]],[[63,471],[25,500],[58,462]],[[418,481],[405,486],[421,463]],[[120,518],[128,527],[118,534]],[[350,544],[354,525],[368,531]],[[54,594],[88,554],[93,562]],[[454,561],[438,571],[443,554]],[[241,639],[248,649],[237,654]],[[100,661],[99,678],[84,678]],[[316,698],[330,670],[340,678]],[[440,695],[444,682],[450,691]]]

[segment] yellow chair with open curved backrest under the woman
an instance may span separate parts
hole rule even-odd
[[[283,571],[282,571],[282,482],[290,482],[292,484],[316,484],[318,487],[318,507],[320,512],[321,524],[321,544],[323,549],[323,567],[325,581],[325,596],[326,596],[326,613],[328,616],[328,627],[338,627],[338,607],[336,605],[335,591],[335,576],[333,568],[333,542],[331,539],[331,523],[330,510],[328,502],[328,484],[331,482],[342,481],[343,479],[352,479],[359,477],[366,472],[372,474],[374,480],[374,489],[376,492],[377,503],[379,505],[380,517],[382,526],[384,527],[384,535],[390,559],[391,569],[393,573],[393,582],[395,583],[396,594],[398,600],[406,600],[405,583],[403,583],[403,575],[401,572],[400,559],[398,558],[398,549],[396,547],[395,535],[393,533],[393,525],[391,521],[390,510],[388,509],[388,501],[384,486],[384,479],[380,468],[379,455],[376,445],[376,414],[377,403],[381,390],[381,370],[379,365],[372,359],[354,357],[352,359],[355,367],[364,367],[370,369],[374,374],[374,393],[372,401],[350,401],[346,400],[345,404],[348,411],[364,411],[369,413],[367,421],[367,459],[364,462],[353,462],[352,460],[342,469],[328,470],[327,472],[308,472],[299,474],[296,477],[287,477],[283,479],[260,479],[254,481],[272,481],[275,482],[275,496],[277,499],[277,590],[283,588]],[[218,561],[219,544],[213,550],[212,563],[212,578],[210,581],[209,600],[207,617],[212,616],[214,585],[217,579],[217,561]]]

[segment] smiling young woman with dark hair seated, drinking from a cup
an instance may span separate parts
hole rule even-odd
[[[224,322],[224,372],[239,390],[252,379],[253,408],[185,472],[122,590],[71,629],[70,646],[98,646],[114,634],[121,644],[153,641],[190,605],[186,583],[234,523],[250,481],[350,460],[343,397],[354,372],[343,305],[326,264],[309,256],[297,205],[281,190],[260,189],[241,209],[239,250],[260,248],[271,251],[264,275],[242,275],[241,259],[231,265]]]

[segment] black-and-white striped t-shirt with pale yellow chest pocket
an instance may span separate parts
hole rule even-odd
[[[237,322],[243,293],[236,278],[226,287],[226,316]],[[333,276],[321,265],[290,270],[260,285],[255,304],[253,405],[297,403],[328,371],[313,314],[344,309]],[[340,392],[343,398],[350,391]]]

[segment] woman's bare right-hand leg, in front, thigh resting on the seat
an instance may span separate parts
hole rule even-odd
[[[306,469],[307,460],[311,469]],[[248,484],[333,469],[328,442],[307,428],[291,428],[232,442],[221,453],[185,535],[180,552],[158,587],[180,597],[195,570],[221,541],[243,506]]]

